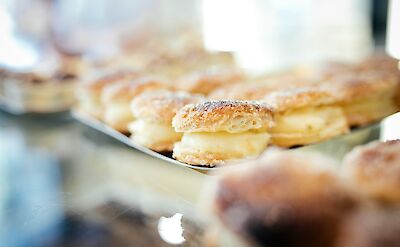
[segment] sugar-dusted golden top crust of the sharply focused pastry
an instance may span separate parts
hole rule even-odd
[[[172,125],[177,132],[244,132],[273,125],[268,105],[256,101],[216,100],[180,109]]]

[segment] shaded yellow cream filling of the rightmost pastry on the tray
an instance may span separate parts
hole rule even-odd
[[[396,104],[391,97],[360,100],[344,104],[342,107],[350,124],[376,120],[397,111]]]

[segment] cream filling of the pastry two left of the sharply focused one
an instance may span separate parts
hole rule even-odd
[[[104,121],[111,126],[122,125],[119,127],[127,128],[129,122],[133,120],[129,103],[109,103],[104,111]]]

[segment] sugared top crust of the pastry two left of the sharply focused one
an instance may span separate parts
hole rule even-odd
[[[130,101],[145,91],[159,89],[167,89],[167,83],[154,76],[140,76],[106,86],[102,93],[102,101],[105,104],[112,101]]]

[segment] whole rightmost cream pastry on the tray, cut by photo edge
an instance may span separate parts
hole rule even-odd
[[[340,106],[350,126],[363,126],[398,111],[396,76],[367,71],[336,76],[325,82],[337,90]]]

